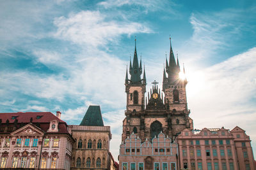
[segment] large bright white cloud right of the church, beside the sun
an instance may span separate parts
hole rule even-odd
[[[256,48],[188,75],[188,107],[194,127],[238,125],[256,147]]]

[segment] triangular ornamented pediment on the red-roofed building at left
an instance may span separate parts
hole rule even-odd
[[[11,135],[13,136],[28,136],[28,135],[44,135],[44,131],[39,129],[38,127],[33,126],[32,124],[27,124],[20,129],[12,132]]]

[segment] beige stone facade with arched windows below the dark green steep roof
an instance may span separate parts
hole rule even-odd
[[[76,141],[72,148],[71,169],[111,169],[110,127],[70,125],[70,128]]]

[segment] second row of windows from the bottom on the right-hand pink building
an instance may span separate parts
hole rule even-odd
[[[247,154],[247,152],[246,152],[246,154]],[[205,155],[207,157],[210,157],[211,156],[211,151],[210,150],[205,150]],[[231,150],[227,150],[227,155],[228,155],[228,157],[232,157],[232,151]],[[182,156],[183,157],[187,156],[187,150],[182,150]],[[189,150],[189,156],[190,157],[194,157],[195,156],[194,150]],[[197,157],[201,157],[202,156],[201,150],[196,150],[196,156]],[[216,149],[212,150],[212,156],[213,157],[218,157],[218,153],[217,153]],[[221,157],[225,157],[225,150],[220,150],[220,156]]]

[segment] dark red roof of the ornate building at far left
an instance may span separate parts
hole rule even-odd
[[[57,120],[58,132],[47,132],[50,122]],[[26,124],[32,124],[39,127],[45,133],[68,133],[67,123],[56,117],[51,112],[17,112],[17,113],[0,113],[0,127],[23,127]],[[1,132],[0,133],[10,133]]]

